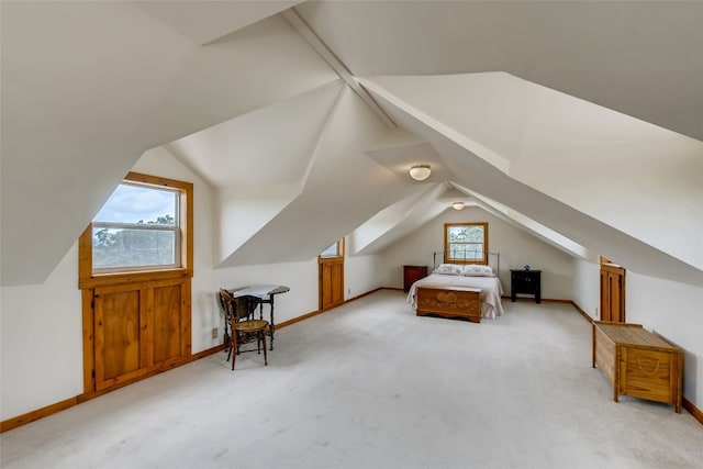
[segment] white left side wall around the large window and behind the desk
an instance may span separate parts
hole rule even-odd
[[[290,292],[276,298],[276,322],[317,310],[317,260],[214,269],[213,220],[219,209],[210,186],[156,148],[134,171],[193,182],[194,276],[192,279],[192,353],[222,342],[223,320],[216,301],[221,287],[276,283]],[[382,284],[380,258],[347,259],[345,298]],[[0,420],[4,421],[83,392],[82,319],[75,243],[41,284],[2,287],[0,291]],[[212,328],[220,338],[213,339]]]

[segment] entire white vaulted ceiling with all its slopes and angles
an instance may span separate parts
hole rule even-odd
[[[221,267],[379,253],[462,196],[703,284],[703,3],[0,5],[2,284],[159,146],[217,193]]]

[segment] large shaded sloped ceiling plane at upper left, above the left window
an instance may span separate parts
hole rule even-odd
[[[131,2],[0,7],[3,284],[43,281],[145,150],[338,79],[278,15],[197,47]]]

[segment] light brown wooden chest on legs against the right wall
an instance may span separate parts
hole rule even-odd
[[[681,413],[683,353],[640,324],[593,322],[592,366],[613,384],[613,400],[674,404]]]

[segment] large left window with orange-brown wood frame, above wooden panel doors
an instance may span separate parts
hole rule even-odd
[[[191,268],[191,183],[130,172],[81,236],[81,280]]]

